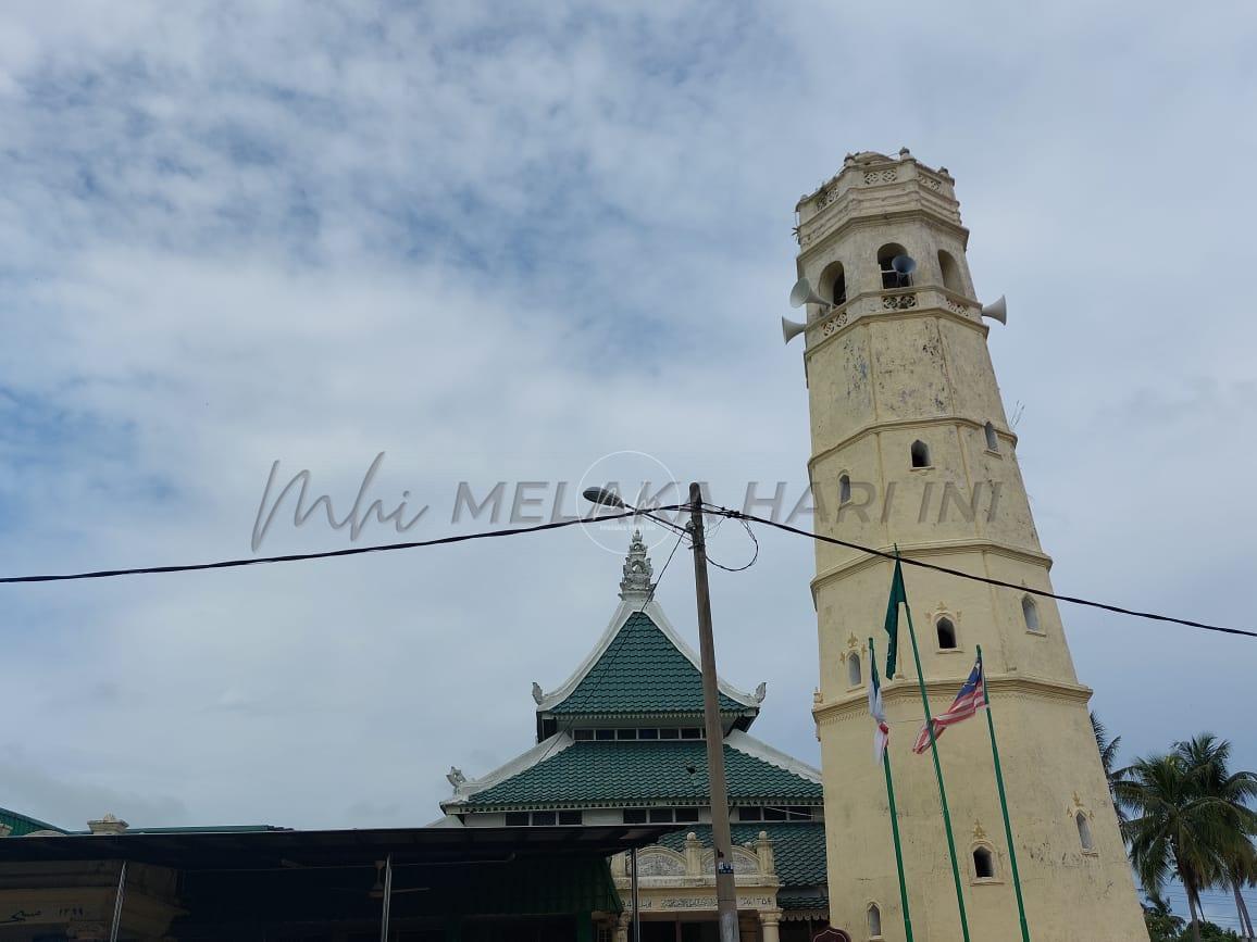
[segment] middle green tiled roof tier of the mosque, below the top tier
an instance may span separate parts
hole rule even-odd
[[[724,765],[730,798],[821,801],[820,782],[728,744]],[[689,766],[695,769],[693,775]],[[625,806],[660,800],[705,805],[709,789],[706,744],[701,740],[581,741],[468,796],[460,806]]]

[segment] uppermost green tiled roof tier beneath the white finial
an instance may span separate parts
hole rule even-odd
[[[720,712],[753,711],[720,693]],[[549,707],[556,716],[701,713],[703,677],[650,615],[635,612],[571,693]]]

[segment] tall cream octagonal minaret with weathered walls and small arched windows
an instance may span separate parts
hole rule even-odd
[[[1017,436],[996,384],[953,182],[906,148],[897,157],[865,152],[848,156],[836,177],[798,203],[798,273],[835,301],[810,304],[804,332],[815,528],[1050,589],[1051,559],[1038,544]],[[916,263],[909,276],[890,264],[904,255]],[[821,688],[813,712],[831,913],[856,939],[903,939],[865,691],[870,636],[885,666],[891,565],[816,546]],[[1091,691],[1075,676],[1056,604],[904,569],[935,713],[950,703],[982,644],[1031,937],[1146,942],[1087,717]],[[884,696],[915,938],[955,942],[934,770],[928,755],[911,754],[923,711],[906,629],[899,674],[885,682]],[[973,942],[1019,939],[985,718],[948,730],[939,751]]]

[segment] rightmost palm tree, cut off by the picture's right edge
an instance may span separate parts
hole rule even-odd
[[[1251,938],[1252,918],[1239,888],[1257,879],[1257,852],[1252,844],[1252,835],[1257,834],[1257,813],[1248,806],[1251,800],[1257,799],[1257,774],[1232,772],[1228,767],[1231,744],[1212,734],[1179,742],[1174,751],[1192,770],[1200,794],[1217,804],[1217,813],[1227,826],[1227,842],[1218,848],[1222,860],[1219,882],[1228,884],[1234,893],[1239,926]]]

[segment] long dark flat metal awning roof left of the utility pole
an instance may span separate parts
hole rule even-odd
[[[552,828],[380,828],[254,833],[75,834],[0,840],[0,865],[39,860],[133,860],[180,870],[289,869],[371,864],[504,863],[610,857],[654,844],[676,825]]]

